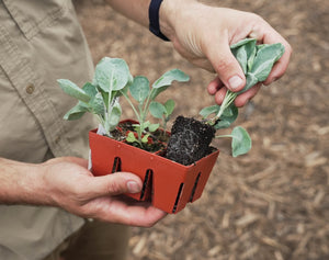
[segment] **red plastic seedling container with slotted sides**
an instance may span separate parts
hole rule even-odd
[[[140,193],[127,194],[138,201],[149,201],[167,213],[178,213],[189,202],[201,197],[219,150],[183,166],[162,157],[161,152],[148,152],[123,142],[98,135],[90,131],[91,171],[94,176],[116,171],[135,173],[143,180]]]

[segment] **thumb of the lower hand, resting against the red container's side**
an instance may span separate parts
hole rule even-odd
[[[102,177],[93,177],[88,184],[88,194],[92,197],[138,193],[141,191],[141,180],[128,172],[116,172]]]

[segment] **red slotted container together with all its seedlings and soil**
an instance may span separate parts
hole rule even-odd
[[[283,54],[281,45],[257,45],[256,39],[241,41],[231,50],[247,77],[243,91],[263,81]],[[58,80],[66,93],[79,100],[65,115],[66,120],[80,118],[86,112],[99,118],[99,128],[89,133],[93,174],[137,174],[144,181],[143,191],[127,195],[150,201],[168,213],[177,213],[201,196],[219,154],[211,146],[214,137],[231,137],[235,157],[251,148],[251,139],[240,126],[230,135],[215,136],[217,129],[230,126],[238,116],[232,104],[237,93],[230,91],[220,106],[201,111],[203,120],[178,116],[171,133],[167,132],[174,102],[168,100],[162,104],[155,99],[174,80],[185,82],[189,76],[179,69],[169,70],[150,86],[146,77],[134,78],[123,59],[107,57],[97,65],[93,81],[82,88],[69,80]],[[120,121],[120,97],[131,104],[136,120]],[[215,116],[207,118],[211,114]],[[150,123],[149,115],[160,120],[161,127]]]

